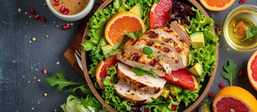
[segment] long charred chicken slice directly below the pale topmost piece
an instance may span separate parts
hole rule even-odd
[[[152,31],[161,34],[161,36],[165,36],[166,38],[163,38],[162,40],[166,43],[174,43],[176,42],[179,47],[183,49],[185,54],[188,56],[189,54],[189,46],[188,44],[177,34],[177,32],[171,30],[167,27],[157,27],[154,29],[151,29]],[[149,30],[148,30],[149,31]],[[174,44],[176,44],[174,43]]]

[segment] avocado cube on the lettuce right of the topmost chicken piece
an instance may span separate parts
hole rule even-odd
[[[195,32],[190,35],[193,48],[202,48],[205,46],[203,32]]]

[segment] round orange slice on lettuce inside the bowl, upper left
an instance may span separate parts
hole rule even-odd
[[[141,31],[145,29],[143,20],[135,13],[123,11],[112,16],[106,23],[104,35],[107,42],[114,46],[121,42],[127,32]]]

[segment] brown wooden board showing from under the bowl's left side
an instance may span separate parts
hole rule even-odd
[[[87,26],[87,22],[89,21],[89,18],[92,17],[92,15],[95,13],[95,11],[98,9],[98,7],[104,2],[105,0],[99,0],[97,2],[96,6],[93,8],[93,10],[85,16],[85,18],[82,20],[80,27],[77,31],[77,34],[73,40],[73,42],[70,44],[68,49],[65,51],[64,58],[70,63],[70,65],[77,71],[81,77],[85,79],[83,71],[80,69],[80,66],[77,62],[77,59],[75,57],[75,50],[81,49],[80,43],[82,42],[83,35]]]

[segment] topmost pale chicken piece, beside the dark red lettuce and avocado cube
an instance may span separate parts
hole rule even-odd
[[[170,29],[175,31],[185,42],[188,46],[191,46],[191,39],[187,34],[187,31],[183,25],[180,24],[181,21],[172,21],[170,24]]]

